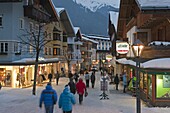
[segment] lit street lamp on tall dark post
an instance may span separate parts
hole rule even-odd
[[[140,59],[140,55],[142,53],[142,50],[144,48],[144,44],[139,40],[137,39],[133,45],[132,45],[132,48],[133,48],[133,52],[134,52],[134,55],[136,57],[136,113],[141,113],[141,102],[140,102],[140,75],[139,75],[139,68],[140,68],[140,62],[139,62],[139,59]]]

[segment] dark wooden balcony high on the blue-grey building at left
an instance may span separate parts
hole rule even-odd
[[[24,16],[39,22],[49,22],[51,17],[50,14],[33,5],[24,6]]]

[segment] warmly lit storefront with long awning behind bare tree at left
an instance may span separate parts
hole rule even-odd
[[[49,59],[39,61],[37,72],[37,84],[48,79],[48,74],[54,74],[59,59]],[[20,60],[10,64],[0,66],[0,83],[3,87],[23,88],[33,84],[34,61]],[[43,77],[42,77],[43,75]]]

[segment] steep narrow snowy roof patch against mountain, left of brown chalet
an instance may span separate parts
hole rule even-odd
[[[118,12],[114,12],[114,11],[110,11],[109,14],[110,14],[111,23],[114,25],[114,27],[115,27],[115,29],[117,31],[117,23],[118,23],[119,13]]]

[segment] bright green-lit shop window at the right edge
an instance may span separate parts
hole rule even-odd
[[[156,75],[156,98],[170,98],[170,75]]]

